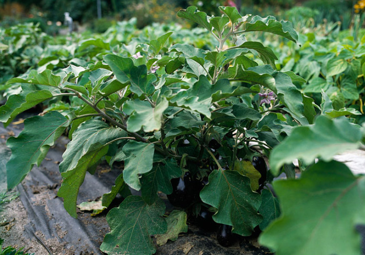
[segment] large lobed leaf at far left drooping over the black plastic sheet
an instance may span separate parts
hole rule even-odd
[[[44,116],[34,116],[24,121],[24,130],[19,136],[10,137],[7,141],[12,150],[7,163],[8,189],[15,188],[34,164],[39,166],[49,147],[68,125],[69,120],[58,112],[49,112]]]

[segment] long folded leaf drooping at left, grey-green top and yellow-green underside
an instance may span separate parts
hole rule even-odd
[[[77,195],[88,168],[107,153],[110,142],[126,136],[126,131],[94,119],[84,122],[74,132],[63,154],[64,160],[59,164],[64,181],[58,190],[58,196],[64,198],[65,209],[71,216],[77,217]]]

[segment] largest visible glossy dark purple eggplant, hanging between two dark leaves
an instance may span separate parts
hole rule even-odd
[[[187,172],[184,178],[171,179],[172,193],[167,195],[173,206],[187,208],[199,197],[199,182]]]

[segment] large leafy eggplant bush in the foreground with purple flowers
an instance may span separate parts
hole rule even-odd
[[[102,60],[87,66],[12,78],[8,84],[21,84],[22,92],[0,107],[5,126],[45,100],[67,100],[72,107],[28,118],[20,135],[8,139],[8,188],[66,132],[71,141],[59,164],[57,195],[71,216],[77,217],[86,172],[93,174],[101,160],[124,161],[123,173],[102,197],[103,208],[118,193],[125,197],[106,216],[110,233],[100,249],[109,255],[152,254],[151,236],[163,244],[186,232],[186,212],[165,218],[157,195],[171,196],[186,179],[199,186],[196,203],[209,207],[216,223],[242,236],[259,226],[260,242],[277,254],[358,254],[355,225],[365,223],[365,181],[331,159],[360,147],[363,128],[344,111],[338,114],[325,93],[322,104],[314,104],[293,84],[306,80],[277,71],[272,49],[245,38],[268,32],[296,43],[289,22],[219,9],[218,17],[196,7],[177,14],[207,29],[217,41],[213,49],[173,44],[168,32],[133,47],[104,42],[108,47],[97,55]],[[263,156],[269,158],[268,173]],[[316,158],[320,162],[313,164]],[[302,172],[298,180],[294,159]],[[273,181],[281,173],[286,180]],[[265,188],[269,183],[278,198]],[[130,189],[142,195],[132,196]]]

